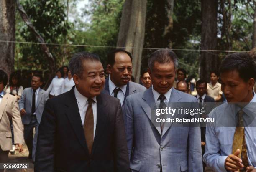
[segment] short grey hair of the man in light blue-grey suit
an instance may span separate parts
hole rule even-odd
[[[171,61],[174,63],[174,69],[178,67],[178,58],[176,54],[169,49],[161,49],[154,51],[148,58],[148,68],[152,71],[154,63],[170,63]]]

